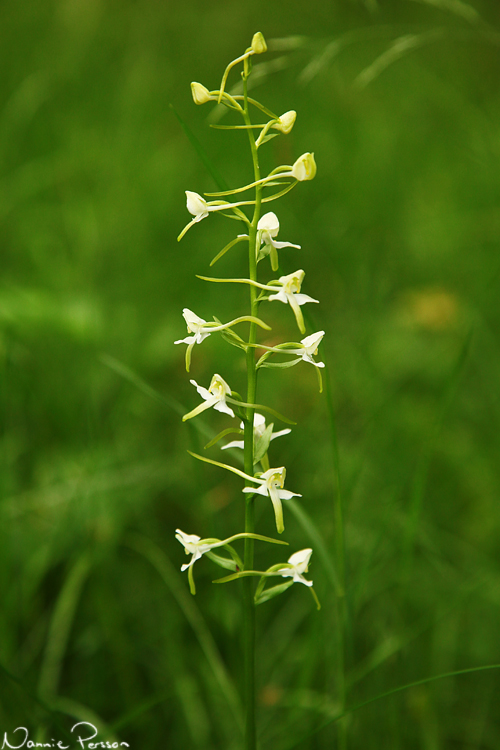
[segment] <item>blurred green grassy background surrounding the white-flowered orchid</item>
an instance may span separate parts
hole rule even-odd
[[[226,320],[247,290],[195,278],[228,222],[176,242],[184,190],[216,186],[169,105],[230,185],[248,182],[246,136],[209,129],[189,83],[216,88],[257,30],[254,93],[298,112],[264,166],[318,164],[276,210],[279,239],[302,245],[282,272],[305,269],[321,300],[309,331],[327,332],[349,705],[500,662],[499,3],[6,0],[1,735],[64,740],[90,721],[132,748],[241,747],[240,590],[212,586],[203,559],[193,599],[174,539],[241,530],[241,482],[186,453],[204,438],[180,421],[198,399],[173,341],[183,307]],[[237,250],[217,274],[246,275]],[[289,311],[266,313],[290,338]],[[218,371],[244,391],[238,350],[213,336],[194,355],[199,383]],[[327,400],[305,365],[261,381],[259,400],[298,423],[272,461],[313,522],[285,509],[323,605],[297,586],[258,609],[261,747],[323,750],[333,725],[294,743],[338,710]],[[348,747],[497,750],[499,698],[495,670],[426,683],[351,714]]]

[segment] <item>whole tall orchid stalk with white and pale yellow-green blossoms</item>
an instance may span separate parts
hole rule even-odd
[[[273,408],[257,404],[257,373],[262,368],[288,368],[309,363],[314,366],[320,383],[321,390],[321,368],[322,362],[315,359],[317,349],[324,331],[312,332],[300,341],[289,341],[275,346],[265,346],[257,341],[257,330],[262,328],[270,330],[270,326],[259,317],[260,306],[263,302],[279,301],[288,304],[295,318],[295,322],[303,336],[306,333],[304,318],[301,307],[307,303],[317,303],[318,300],[302,292],[302,284],[305,273],[302,269],[280,275],[277,279],[267,282],[259,281],[258,265],[261,261],[269,258],[272,272],[278,271],[280,267],[278,251],[286,247],[299,248],[290,242],[278,240],[280,230],[278,217],[274,212],[265,212],[264,204],[271,203],[292,190],[299,182],[312,180],[316,174],[316,163],[312,153],[299,156],[292,165],[281,165],[273,169],[268,175],[262,176],[259,166],[259,149],[271,138],[287,135],[293,128],[296,118],[294,111],[285,112],[278,116],[271,112],[260,102],[248,96],[248,78],[252,69],[252,58],[266,52],[267,46],[260,32],[254,34],[252,43],[243,55],[229,63],[219,89],[210,91],[201,83],[192,83],[191,91],[196,104],[206,102],[217,102],[223,104],[242,119],[242,123],[236,125],[217,126],[221,129],[246,130],[248,134],[251,160],[253,164],[253,180],[234,190],[217,193],[206,193],[205,198],[190,190],[186,190],[187,209],[193,217],[179,234],[181,240],[186,232],[195,224],[208,218],[210,214],[221,214],[230,219],[236,219],[244,224],[245,230],[238,234],[225,248],[213,258],[210,265],[214,265],[226,252],[230,251],[240,243],[248,246],[248,274],[244,278],[213,278],[200,276],[211,283],[236,283],[245,284],[249,289],[249,312],[239,316],[227,323],[221,323],[214,317],[213,321],[203,318],[185,308],[184,320],[187,325],[188,336],[178,339],[176,344],[187,344],[186,370],[191,367],[191,357],[194,347],[202,344],[211,334],[221,335],[228,343],[238,347],[244,353],[246,359],[246,400],[244,401],[231,386],[219,374],[214,374],[208,388],[198,385],[195,380],[191,383],[196,388],[202,401],[190,412],[184,415],[183,420],[196,417],[202,411],[215,409],[228,418],[239,419],[239,427],[224,429],[206,448],[214,446],[219,440],[230,433],[243,435],[243,440],[231,441],[222,446],[225,448],[240,448],[243,450],[243,470],[220,461],[192,453],[195,458],[210,464],[219,466],[226,471],[237,474],[244,479],[242,488],[245,502],[245,529],[241,533],[234,534],[228,539],[201,539],[195,534],[186,534],[177,529],[176,538],[183,545],[186,554],[191,555],[190,561],[182,566],[182,570],[188,571],[189,586],[191,593],[196,592],[193,568],[194,564],[203,556],[212,560],[215,564],[230,571],[229,575],[220,578],[216,583],[226,583],[239,578],[243,579],[243,606],[244,606],[244,664],[245,664],[245,748],[255,750],[256,748],[256,726],[255,726],[255,607],[274,596],[282,594],[294,583],[302,583],[312,592],[316,604],[319,602],[312,588],[312,581],[305,578],[311,549],[303,549],[294,552],[288,560],[278,562],[265,571],[254,570],[254,546],[255,542],[266,542],[272,544],[287,544],[279,539],[271,539],[256,533],[255,530],[255,501],[259,496],[267,497],[271,501],[276,521],[278,534],[283,533],[285,528],[282,501],[291,497],[301,497],[299,493],[285,489],[286,469],[284,466],[273,467],[270,464],[268,452],[270,442],[281,437],[289,429],[274,431],[274,423],[266,424],[264,411],[281,421],[293,424],[286,417],[278,414]],[[226,91],[226,83],[231,70],[242,65],[241,78],[243,82],[243,94],[230,95]],[[259,119],[265,122],[253,123],[251,112],[258,111]],[[250,197],[249,197],[250,193]],[[245,194],[247,197],[245,197]],[[211,200],[207,200],[207,198]],[[240,199],[241,198],[241,199]],[[250,209],[251,217],[246,211]],[[267,263],[264,264],[267,267]],[[248,326],[240,328],[240,324]],[[235,328],[238,327],[239,333]],[[246,330],[246,336],[244,332]],[[263,350],[260,358],[256,358],[256,349]],[[279,355],[276,358],[276,355]],[[234,423],[233,423],[234,424]],[[233,547],[233,542],[243,541],[243,558],[241,558]],[[217,550],[215,552],[214,550]],[[220,554],[224,552],[225,554]],[[255,577],[260,580],[255,586]],[[273,578],[284,579],[275,585]]]

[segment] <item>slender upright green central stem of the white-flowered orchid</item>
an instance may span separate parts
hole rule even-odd
[[[245,125],[250,126],[250,115],[248,113],[248,94],[247,94],[247,66],[245,66],[245,72],[243,75],[243,91],[244,91],[244,109],[243,119]],[[254,168],[254,179],[255,182],[260,180],[260,168],[259,160],[257,155],[257,149],[252,135],[252,129],[248,129],[248,137],[250,141],[250,149],[252,152],[252,161]],[[248,239],[248,268],[249,278],[252,281],[257,281],[257,224],[260,218],[260,206],[262,200],[262,186],[257,185],[255,187],[255,208],[252,218],[252,223],[249,229]],[[250,286],[250,309],[251,314],[254,315],[257,312],[258,302],[257,290],[251,285]],[[256,325],[250,323],[249,332],[249,343],[255,344],[256,342]],[[247,403],[249,406],[246,408],[246,420],[244,430],[244,457],[245,457],[245,472],[250,476],[254,474],[254,446],[253,446],[253,417],[255,409],[253,404],[256,402],[256,391],[257,391],[257,370],[255,367],[255,352],[252,346],[248,347],[246,354],[247,364]],[[255,509],[254,509],[254,496],[246,496],[245,506],[245,531],[254,533],[255,530]],[[245,539],[245,555],[244,555],[244,569],[253,570],[254,560],[254,540]],[[245,721],[245,750],[256,750],[257,747],[257,734],[255,724],[255,604],[254,604],[254,581],[251,577],[244,578],[243,581],[243,592],[244,592],[244,664],[245,664],[245,706],[246,706],[246,721]]]

